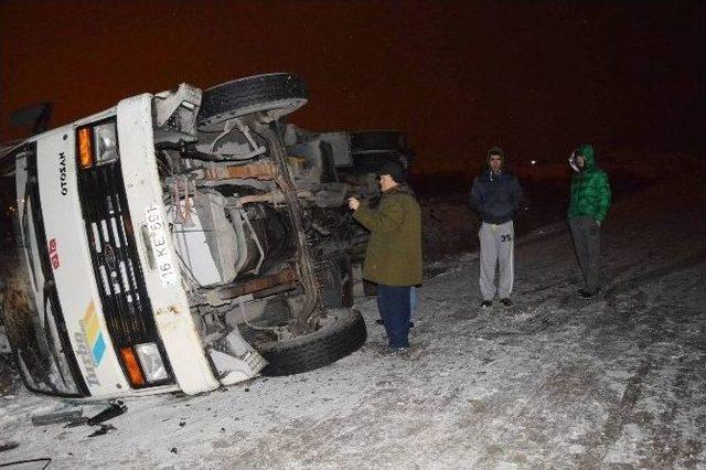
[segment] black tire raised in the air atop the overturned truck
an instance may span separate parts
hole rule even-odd
[[[239,78],[203,92],[196,127],[217,131],[224,121],[255,113],[279,118],[308,100],[307,85],[297,75],[278,73]]]

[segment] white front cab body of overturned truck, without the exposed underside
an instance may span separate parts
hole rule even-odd
[[[31,389],[194,394],[252,378],[265,365],[240,340],[243,354],[231,357],[237,367],[217,371],[200,341],[158,177],[154,99],[125,99],[3,157],[15,160],[21,261],[31,275],[33,328],[42,330],[35,335],[44,337],[32,338],[44,343],[36,349],[17,344]],[[195,113],[199,103],[180,105]]]

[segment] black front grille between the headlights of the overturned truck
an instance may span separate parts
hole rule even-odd
[[[78,170],[78,189],[96,285],[116,353],[122,346],[157,343],[169,371],[137,254],[120,162]]]

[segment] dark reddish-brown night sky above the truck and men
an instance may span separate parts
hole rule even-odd
[[[17,107],[52,126],[171,88],[288,71],[317,130],[399,128],[417,172],[475,171],[485,149],[563,160],[704,151],[706,2],[4,1],[0,136]]]

